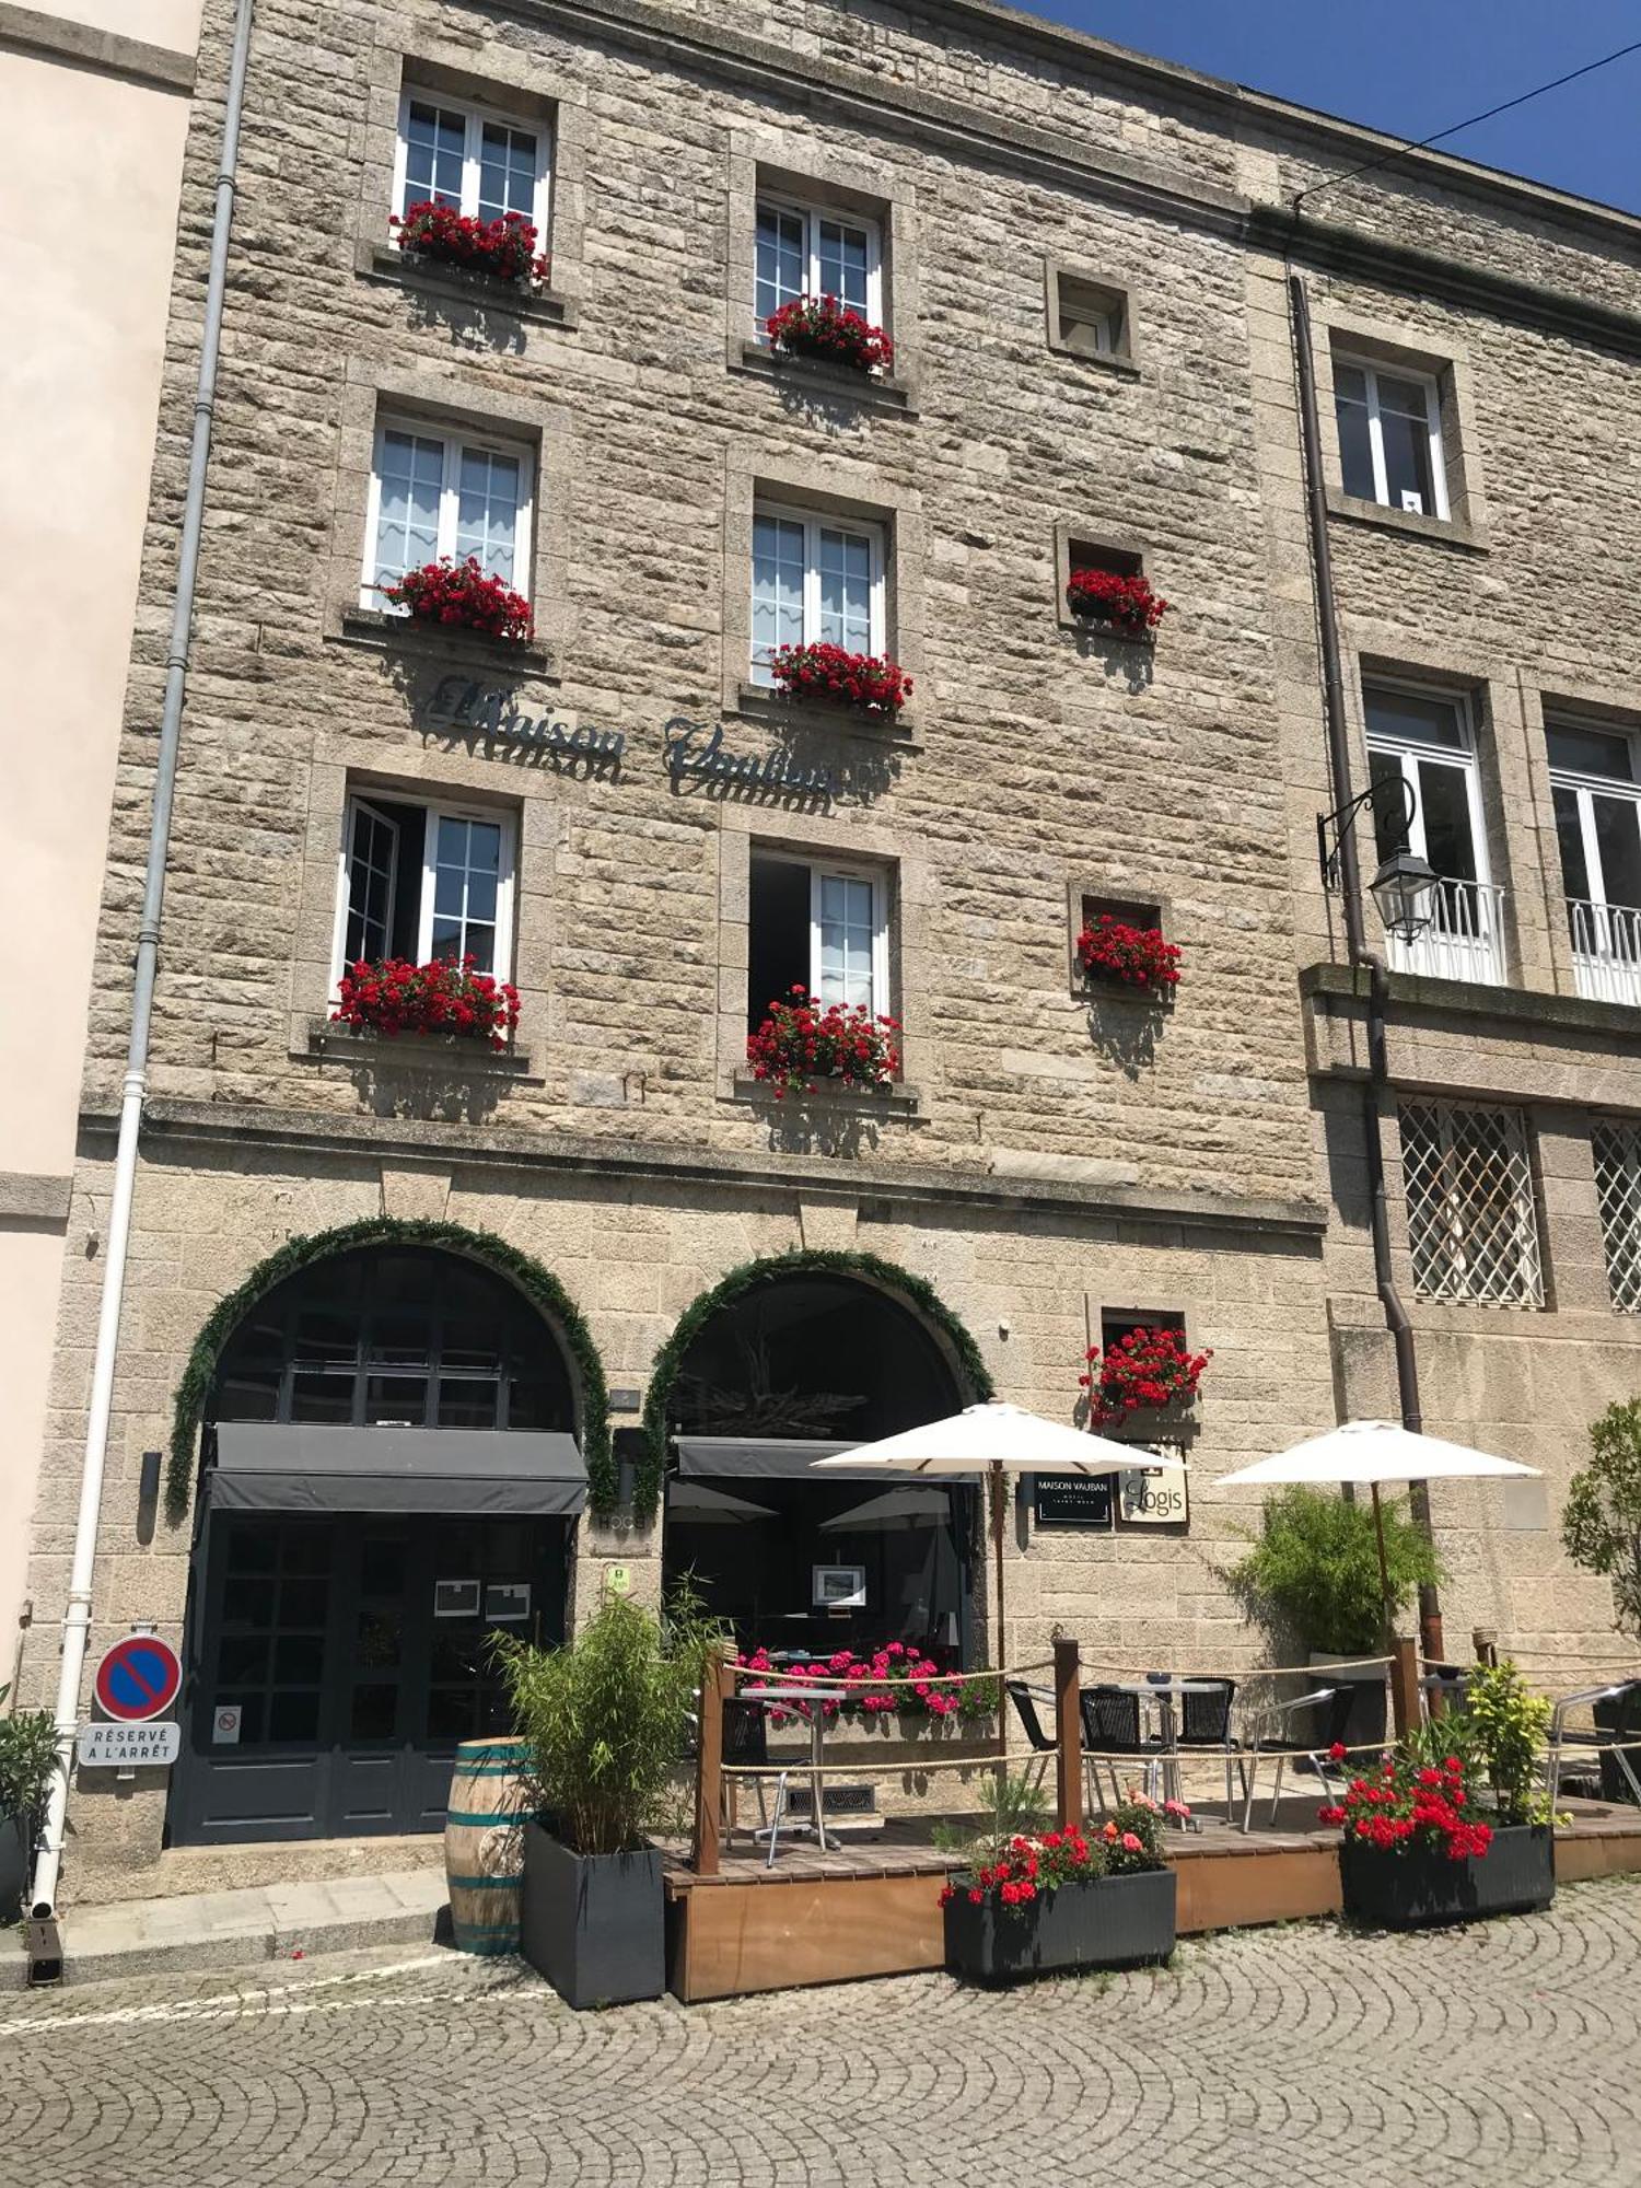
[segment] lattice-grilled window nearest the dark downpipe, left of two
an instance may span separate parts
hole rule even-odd
[[[1521,1109],[1403,1103],[1400,1127],[1418,1297],[1543,1306],[1538,1214]]]

